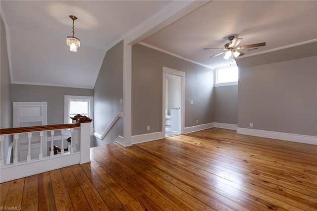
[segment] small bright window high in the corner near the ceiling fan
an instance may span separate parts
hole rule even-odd
[[[218,68],[215,70],[214,86],[237,85],[239,70],[237,66]]]

